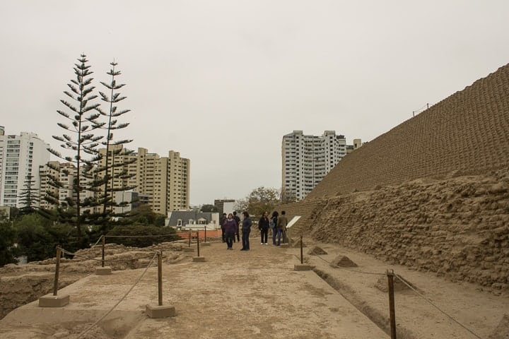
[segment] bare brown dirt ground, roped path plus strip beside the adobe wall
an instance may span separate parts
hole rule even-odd
[[[333,244],[305,240],[305,261],[315,271],[295,271],[298,247],[260,245],[233,251],[219,242],[201,247],[204,263],[189,253],[163,265],[163,304],[176,316],[150,319],[146,304],[156,305],[157,269],[144,268],[89,275],[59,290],[69,305],[48,309],[37,302],[20,307],[0,321],[0,337],[11,338],[390,338],[386,269],[402,276],[433,304],[476,335],[451,321],[411,290],[396,292],[398,338],[509,338],[507,328],[493,331],[509,314],[509,297],[494,296],[469,284],[450,283],[433,273],[387,264]],[[327,251],[310,256],[312,246]],[[168,255],[172,255],[168,252]],[[333,268],[329,262],[348,256],[356,268]],[[373,274],[375,273],[375,274]],[[334,288],[333,288],[334,287]],[[119,302],[115,310],[84,333]]]

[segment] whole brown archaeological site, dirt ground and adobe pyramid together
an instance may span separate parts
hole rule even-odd
[[[108,241],[104,275],[101,246],[66,255],[62,307],[39,306],[57,258],[0,268],[0,338],[508,339],[509,65],[365,143],[277,209],[300,216],[288,246],[259,245],[257,230],[250,251],[220,239]],[[175,313],[157,318],[147,305]]]

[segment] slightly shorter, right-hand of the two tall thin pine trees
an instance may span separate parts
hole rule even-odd
[[[103,166],[99,166],[97,169],[98,179],[103,179],[105,183],[103,185],[102,201],[103,201],[103,215],[106,217],[108,214],[113,215],[113,208],[119,206],[115,203],[114,193],[115,191],[127,191],[134,189],[135,186],[127,186],[124,182],[127,179],[134,177],[135,174],[129,174],[127,165],[132,164],[136,161],[136,158],[128,160],[127,155],[133,153],[132,150],[127,150],[124,145],[131,143],[131,139],[123,139],[113,141],[113,131],[119,129],[125,129],[129,126],[129,123],[120,123],[119,117],[131,112],[130,109],[119,109],[117,106],[118,102],[126,99],[126,97],[120,95],[119,90],[124,87],[124,83],[117,83],[117,77],[120,76],[121,72],[115,69],[117,63],[112,61],[110,63],[111,69],[107,72],[107,75],[111,76],[110,83],[101,81],[101,84],[107,88],[109,93],[99,92],[101,100],[107,103],[109,109],[107,111],[97,107],[99,112],[90,119],[95,124],[96,128],[105,129],[106,140],[102,141],[102,145],[105,146],[105,161]],[[106,120],[104,123],[99,123],[98,119],[103,118]],[[116,160],[119,159],[119,160]],[[120,169],[120,170],[116,170]],[[115,187],[114,182],[121,181],[122,187]],[[125,203],[125,202],[124,202]],[[110,206],[108,213],[107,207]]]

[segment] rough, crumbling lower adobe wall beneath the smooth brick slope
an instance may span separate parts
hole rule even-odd
[[[509,291],[509,170],[323,199],[310,233],[389,263]]]

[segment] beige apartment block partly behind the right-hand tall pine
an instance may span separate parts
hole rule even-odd
[[[105,148],[99,151],[106,155]],[[106,157],[103,156],[100,165],[104,166],[105,163]],[[179,152],[170,150],[168,157],[160,157],[157,153],[149,153],[146,148],[138,148],[138,152],[131,152],[122,150],[122,145],[114,145],[110,146],[108,163],[112,174],[119,174],[122,171],[127,173],[127,178],[123,179],[112,175],[115,178],[112,182],[115,191],[132,188],[132,191],[148,198],[148,205],[153,212],[168,215],[172,210],[189,207],[191,162],[180,157]],[[112,164],[117,166],[112,167]]]

